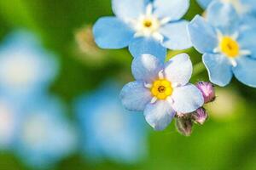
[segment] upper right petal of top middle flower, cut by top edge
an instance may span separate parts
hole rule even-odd
[[[154,8],[160,18],[180,20],[189,9],[189,0],[154,0]]]

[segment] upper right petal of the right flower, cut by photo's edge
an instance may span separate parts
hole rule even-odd
[[[247,31],[242,31],[238,42],[241,50],[249,50],[252,54],[252,58],[256,59],[256,31],[255,29],[249,29]]]

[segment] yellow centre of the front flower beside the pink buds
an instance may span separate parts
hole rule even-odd
[[[160,79],[153,83],[151,94],[157,99],[166,99],[172,95],[172,83],[166,79]]]

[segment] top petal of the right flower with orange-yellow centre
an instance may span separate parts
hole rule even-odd
[[[207,20],[223,33],[230,34],[236,31],[240,19],[231,3],[214,1],[207,8]]]

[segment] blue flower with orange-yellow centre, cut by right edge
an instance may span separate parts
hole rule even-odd
[[[211,82],[219,86],[230,83],[233,73],[244,84],[256,88],[256,31],[241,25],[234,10],[228,16],[195,16],[189,34],[195,48],[203,54]]]

